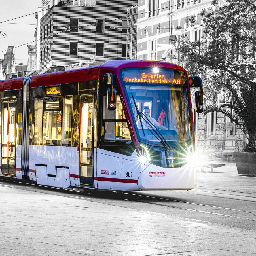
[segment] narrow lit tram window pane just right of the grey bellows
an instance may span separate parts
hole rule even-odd
[[[35,99],[35,145],[42,144],[42,128],[43,128],[43,100]]]

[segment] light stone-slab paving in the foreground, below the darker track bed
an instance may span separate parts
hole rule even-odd
[[[1,256],[255,255],[254,231],[21,190],[1,181],[0,194]]]

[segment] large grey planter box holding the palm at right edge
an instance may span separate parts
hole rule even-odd
[[[234,152],[238,174],[256,175],[256,153]]]

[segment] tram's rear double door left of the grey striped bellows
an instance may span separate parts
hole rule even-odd
[[[1,169],[3,174],[16,175],[15,130],[16,102],[2,103],[2,149]]]

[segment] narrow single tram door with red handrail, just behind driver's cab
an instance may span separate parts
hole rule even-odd
[[[81,185],[94,185],[93,124],[94,95],[80,96],[79,167]]]

